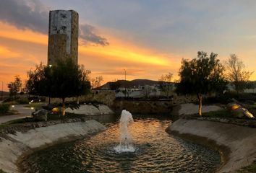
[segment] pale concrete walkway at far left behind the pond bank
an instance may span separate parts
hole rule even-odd
[[[16,110],[19,114],[0,116],[0,124],[7,123],[10,120],[17,120],[23,117],[31,117],[31,113],[34,110],[31,110],[30,107],[24,107],[24,106],[25,105],[14,105],[14,107],[11,107],[11,110]]]

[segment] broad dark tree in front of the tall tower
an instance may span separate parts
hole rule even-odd
[[[62,115],[65,115],[65,99],[78,97],[90,90],[88,71],[67,58],[66,61],[57,61],[56,66],[37,66],[30,71],[27,82],[31,93],[41,96],[51,96],[62,99]]]

